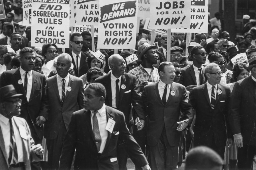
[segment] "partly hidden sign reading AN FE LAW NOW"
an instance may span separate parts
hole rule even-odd
[[[77,25],[98,25],[99,0],[75,0]]]

